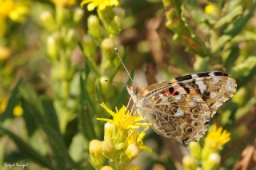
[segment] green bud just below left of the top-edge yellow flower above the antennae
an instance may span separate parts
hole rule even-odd
[[[89,34],[94,38],[101,38],[102,36],[102,26],[98,21],[98,17],[96,15],[90,15],[88,18],[88,29]]]

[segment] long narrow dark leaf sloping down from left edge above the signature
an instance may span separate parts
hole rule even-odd
[[[37,151],[34,150],[34,148],[30,147],[30,144],[27,144],[22,138],[15,135],[13,132],[10,132],[8,129],[3,128],[2,125],[0,125],[0,133],[3,133],[7,136],[9,136],[14,143],[17,145],[18,149],[28,156],[30,160],[33,160],[37,164],[42,165],[43,167],[53,169],[52,164],[50,163],[50,160],[48,160],[46,157],[41,156],[38,154]]]

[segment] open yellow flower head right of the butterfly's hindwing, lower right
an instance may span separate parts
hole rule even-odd
[[[228,141],[230,141],[230,132],[223,130],[222,127],[217,128],[216,125],[213,125],[206,136],[206,145],[213,149],[222,149],[222,146]]]

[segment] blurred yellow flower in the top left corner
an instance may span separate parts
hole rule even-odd
[[[14,2],[13,0],[0,0],[0,18],[10,18],[14,22],[24,22],[29,12],[25,2]]]

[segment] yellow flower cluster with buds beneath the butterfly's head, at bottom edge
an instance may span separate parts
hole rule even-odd
[[[142,117],[130,114],[126,106],[115,109],[115,112],[102,103],[102,108],[113,119],[98,118],[100,121],[107,121],[104,128],[104,140],[90,141],[90,162],[95,168],[104,166],[108,159],[108,165],[113,169],[138,169],[130,165],[130,161],[138,156],[140,150],[151,152],[151,148],[143,144],[146,135],[144,131],[139,132],[138,128],[147,128],[149,123],[142,123]],[[129,168],[128,168],[129,167]]]

